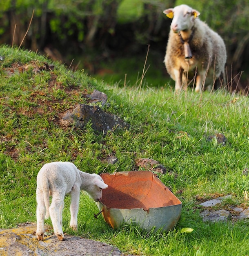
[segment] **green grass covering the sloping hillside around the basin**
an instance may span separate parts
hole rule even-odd
[[[176,193],[182,216],[173,230],[153,233],[134,225],[113,230],[101,216],[93,218],[98,208],[82,194],[78,232],[69,229],[70,202],[65,199],[65,233],[104,241],[125,254],[249,254],[249,222],[203,222],[196,199],[231,194],[221,207],[249,206],[243,194],[249,191],[249,177],[242,175],[249,166],[247,97],[224,90],[174,94],[169,87],[148,84],[141,90],[133,84],[120,88],[32,52],[2,46],[0,56],[0,229],[36,222],[36,175],[46,162],[71,161],[85,172],[113,173],[132,171],[135,159],[150,157],[170,171],[160,180],[173,193],[182,190]],[[128,131],[103,136],[90,126],[60,124],[61,115],[85,103],[82,95],[94,88],[107,94],[104,110],[127,121]],[[216,132],[227,137],[226,146],[206,140]],[[109,155],[118,157],[117,164],[101,161]]]

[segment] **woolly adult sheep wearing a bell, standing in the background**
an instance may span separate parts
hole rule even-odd
[[[196,92],[204,85],[212,85],[223,75],[227,52],[222,38],[198,16],[200,13],[186,4],[163,11],[173,18],[165,55],[165,66],[180,91],[182,80],[189,72],[196,72]]]

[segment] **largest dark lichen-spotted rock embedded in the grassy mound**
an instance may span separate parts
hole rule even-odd
[[[104,134],[107,134],[109,130],[129,129],[129,124],[116,115],[108,114],[98,106],[87,104],[79,104],[72,112],[67,112],[62,117],[62,124],[67,125],[67,122],[75,123],[78,128],[90,122],[94,131],[104,132]]]

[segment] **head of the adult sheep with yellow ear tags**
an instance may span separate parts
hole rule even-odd
[[[178,33],[180,31],[191,30],[194,25],[195,18],[200,15],[200,13],[186,4],[181,4],[175,8],[166,9],[163,11],[168,18],[173,19],[170,28]]]

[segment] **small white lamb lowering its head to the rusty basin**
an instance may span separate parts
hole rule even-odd
[[[44,164],[37,175],[37,239],[44,239],[44,218],[49,218],[50,214],[54,233],[59,240],[65,240],[62,231],[62,210],[66,194],[71,196],[70,227],[77,230],[80,189],[87,191],[93,200],[98,202],[102,198],[102,189],[107,187],[108,185],[103,182],[99,175],[84,173],[72,163],[53,162]],[[50,207],[49,195],[52,196]]]

